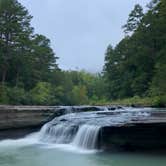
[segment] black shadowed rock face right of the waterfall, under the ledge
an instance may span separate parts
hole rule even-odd
[[[166,150],[165,124],[135,124],[102,128],[100,148],[127,151]]]

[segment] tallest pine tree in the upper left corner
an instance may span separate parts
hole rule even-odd
[[[17,0],[0,0],[0,70],[2,84],[6,81],[11,60],[17,58],[21,50],[26,47],[23,45],[23,41],[29,40],[32,34],[31,18],[28,11]]]

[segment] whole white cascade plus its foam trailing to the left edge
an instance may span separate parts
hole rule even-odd
[[[148,110],[119,109],[118,111],[91,111],[68,113],[56,117],[45,124],[37,133],[19,140],[5,140],[2,145],[27,146],[41,144],[48,148],[64,148],[77,152],[94,152],[102,145],[102,134],[105,127],[121,126],[135,120],[146,120],[150,116]],[[90,150],[90,151],[89,151]]]

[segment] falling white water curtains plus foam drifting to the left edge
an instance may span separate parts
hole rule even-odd
[[[93,125],[81,125],[73,132],[73,126],[49,123],[44,125],[37,133],[22,139],[4,140],[0,147],[18,148],[30,145],[41,145],[44,148],[58,148],[79,153],[97,152],[97,140],[100,127]]]

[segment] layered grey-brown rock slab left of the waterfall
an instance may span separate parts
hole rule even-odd
[[[0,130],[41,126],[55,114],[55,107],[0,106]]]

